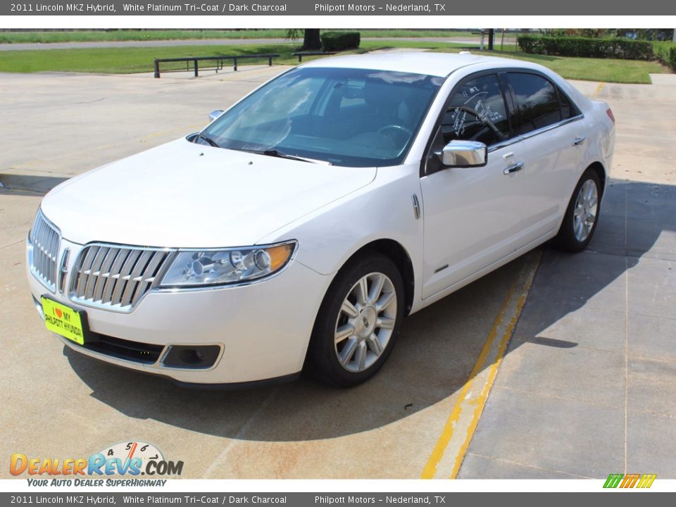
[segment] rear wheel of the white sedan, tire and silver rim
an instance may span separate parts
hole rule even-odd
[[[579,252],[587,248],[599,223],[600,198],[601,180],[594,169],[588,168],[572,192],[554,240],[558,249]]]

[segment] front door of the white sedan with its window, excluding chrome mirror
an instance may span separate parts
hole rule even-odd
[[[472,75],[453,89],[420,180],[425,220],[423,299],[519,248],[525,172],[500,77]],[[488,146],[487,165],[447,168],[439,152],[453,139]]]

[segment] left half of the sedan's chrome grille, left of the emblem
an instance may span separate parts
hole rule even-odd
[[[61,243],[61,234],[44,218],[42,211],[38,211],[35,215],[28,242],[30,244],[28,262],[31,273],[51,292],[56,292],[56,256],[58,256],[58,246]]]

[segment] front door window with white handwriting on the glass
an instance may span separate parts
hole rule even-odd
[[[442,118],[442,133],[444,144],[462,139],[490,146],[509,137],[507,110],[496,75],[465,81],[453,91]]]

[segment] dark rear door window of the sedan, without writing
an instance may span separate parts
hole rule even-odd
[[[558,94],[549,80],[526,73],[509,73],[508,80],[519,108],[519,134],[561,121]],[[570,113],[570,103],[568,106]]]

